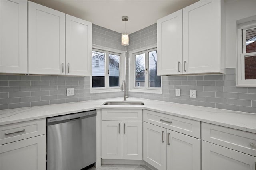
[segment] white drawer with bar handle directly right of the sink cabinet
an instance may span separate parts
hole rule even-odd
[[[149,110],[143,110],[143,121],[200,139],[199,121]]]

